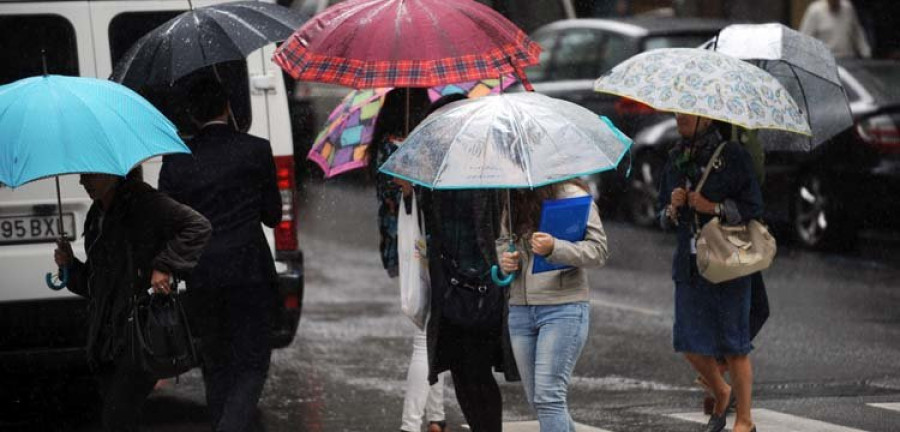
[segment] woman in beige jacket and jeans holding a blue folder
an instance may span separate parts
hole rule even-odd
[[[554,206],[557,211],[548,211]],[[606,233],[597,205],[580,181],[516,191],[511,207],[513,219],[518,219],[511,224],[517,251],[509,252],[510,233],[503,224],[497,254],[504,273],[521,270],[509,290],[509,333],[516,365],[541,431],[574,431],[566,400],[588,335],[589,285],[583,268],[606,263]],[[578,232],[572,240],[564,240],[560,237],[565,231]],[[540,271],[540,261],[546,261],[543,266],[550,270]]]

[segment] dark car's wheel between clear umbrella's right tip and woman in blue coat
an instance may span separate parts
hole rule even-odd
[[[655,226],[659,220],[659,176],[662,162],[652,155],[641,155],[632,166],[631,180],[625,193],[625,217],[639,226]]]

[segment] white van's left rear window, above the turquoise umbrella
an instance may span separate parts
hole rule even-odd
[[[78,76],[75,28],[59,15],[0,16],[0,85],[47,73]]]

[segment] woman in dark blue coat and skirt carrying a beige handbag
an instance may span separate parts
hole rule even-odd
[[[750,276],[713,284],[697,270],[694,238],[715,216],[738,225],[762,216],[763,204],[753,161],[737,142],[725,144],[700,193],[694,191],[730,125],[705,117],[677,114],[683,137],[669,154],[660,184],[660,222],[677,232],[672,262],[675,282],[675,351],[710,384],[716,405],[706,432],[725,428],[725,410],[737,400],[734,431],[755,432],[750,417],[753,372],[750,365]],[[695,222],[699,219],[699,226]],[[716,357],[728,360],[732,386],[716,369]]]

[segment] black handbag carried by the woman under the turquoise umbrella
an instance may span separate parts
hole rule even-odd
[[[135,364],[158,379],[178,376],[200,365],[196,341],[174,288],[171,294],[135,296],[133,300]]]

